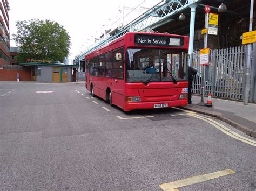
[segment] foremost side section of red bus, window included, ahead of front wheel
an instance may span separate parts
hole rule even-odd
[[[124,49],[113,52],[112,103],[124,107]]]

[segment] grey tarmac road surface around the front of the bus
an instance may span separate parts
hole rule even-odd
[[[123,112],[60,83],[0,84],[0,112],[1,190],[256,189],[255,139],[207,116]]]

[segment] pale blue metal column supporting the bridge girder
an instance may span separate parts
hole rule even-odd
[[[189,47],[188,47],[188,55],[190,55],[189,57],[189,61],[188,61],[188,66],[192,66],[192,61],[193,61],[193,45],[194,45],[194,21],[196,19],[196,8],[197,8],[198,4],[194,3],[192,5],[190,5],[190,9],[191,9],[191,15],[190,15],[190,43],[189,43]]]

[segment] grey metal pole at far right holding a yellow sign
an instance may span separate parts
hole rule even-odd
[[[253,22],[253,0],[251,0],[251,9],[250,9],[250,22],[249,22],[249,32],[252,31],[252,22]],[[245,73],[245,96],[244,96],[244,105],[249,104],[249,93],[250,93],[250,77],[251,77],[251,46],[252,44],[247,45],[247,60],[246,60],[246,73]]]

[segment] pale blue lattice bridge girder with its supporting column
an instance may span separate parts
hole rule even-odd
[[[193,53],[193,38],[194,38],[194,20],[196,7],[201,0],[166,0],[160,1],[154,5],[151,9],[144,12],[142,15],[132,20],[129,24],[125,25],[121,29],[117,30],[114,34],[107,34],[103,38],[99,39],[95,44],[91,45],[84,52],[80,53],[73,63],[84,61],[85,55],[95,51],[97,48],[106,45],[117,39],[127,32],[143,32],[147,29],[154,29],[161,25],[166,24],[170,21],[171,16],[177,13],[183,12],[185,9],[191,9],[191,20],[190,20],[190,46],[188,54]]]

